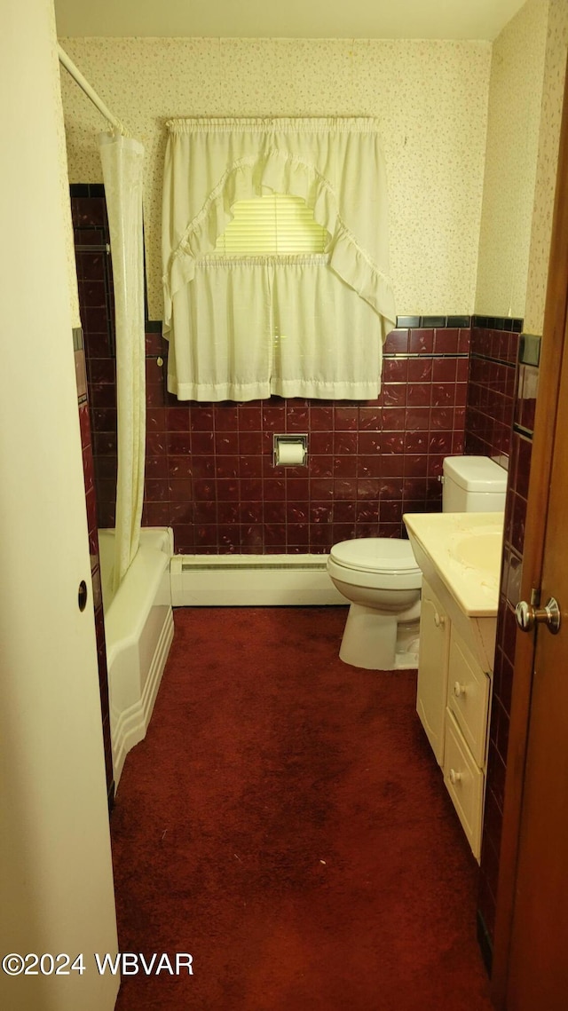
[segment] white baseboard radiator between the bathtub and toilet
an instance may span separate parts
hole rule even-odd
[[[174,555],[172,604],[290,607],[347,604],[326,571],[327,555]]]

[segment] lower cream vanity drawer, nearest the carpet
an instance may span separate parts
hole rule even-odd
[[[483,816],[484,776],[474,762],[469,748],[452,716],[446,712],[446,746],[444,749],[444,782],[473,855],[479,862],[481,853],[481,821]]]

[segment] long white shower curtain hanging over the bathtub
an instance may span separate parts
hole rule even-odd
[[[137,141],[103,133],[99,144],[110,229],[115,305],[118,476],[113,586],[138,549],[146,447],[143,163]]]

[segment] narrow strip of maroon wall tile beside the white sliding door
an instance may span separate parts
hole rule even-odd
[[[91,424],[87,392],[87,372],[85,350],[81,328],[73,331],[75,351],[75,371],[79,400],[79,423],[81,426],[81,447],[83,450],[83,474],[85,478],[85,498],[87,502],[87,524],[89,528],[89,554],[91,556],[91,578],[93,586],[93,608],[95,612],[95,633],[99,668],[99,688],[101,698],[104,760],[106,769],[106,790],[109,810],[114,803],[114,777],[112,771],[112,751],[110,743],[110,716],[108,702],[108,674],[106,667],[106,644],[104,638],[104,618],[102,610],[101,576],[99,567],[99,543],[97,533],[97,513],[95,498],[95,469],[91,441]]]

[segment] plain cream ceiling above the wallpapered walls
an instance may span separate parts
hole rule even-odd
[[[55,0],[58,34],[493,39],[526,0]]]

